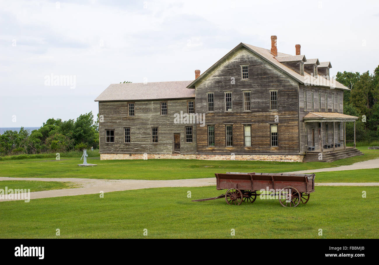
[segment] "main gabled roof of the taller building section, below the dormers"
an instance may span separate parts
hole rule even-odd
[[[247,50],[251,51],[255,56],[262,59],[263,61],[267,62],[268,64],[273,65],[277,70],[284,73],[285,75],[289,76],[290,78],[293,78],[294,80],[298,81],[300,84],[304,85],[311,85],[311,86],[322,86],[322,87],[330,87],[332,89],[342,89],[342,90],[349,90],[347,87],[345,87],[343,84],[337,82],[336,80],[327,80],[323,76],[318,75],[318,78],[313,78],[313,76],[309,75],[309,73],[304,72],[304,75],[300,75],[294,70],[290,69],[289,67],[285,66],[284,64],[280,63],[275,59],[275,57],[271,54],[271,51],[265,48],[255,47],[253,45],[240,43],[238,44],[233,50],[229,51],[224,57],[219,59],[215,64],[213,64],[210,68],[208,68],[204,73],[202,73],[198,78],[196,78],[191,84],[189,84],[188,88],[193,88],[195,84],[199,83],[200,81],[204,80],[210,74],[216,67],[218,67],[219,64],[224,62],[230,55],[232,55],[234,52],[239,50],[240,48],[246,48]],[[291,56],[285,53],[277,53],[278,57],[281,56]],[[309,61],[309,60],[307,60]],[[318,60],[316,60],[318,62]],[[329,85],[328,85],[329,84]]]

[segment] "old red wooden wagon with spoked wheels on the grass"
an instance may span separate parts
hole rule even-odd
[[[228,204],[240,205],[243,201],[254,203],[257,196],[262,196],[257,191],[265,191],[263,196],[278,199],[282,206],[296,207],[300,203],[306,204],[310,193],[315,191],[315,174],[227,172],[215,175],[216,189],[226,189],[227,192],[217,197],[193,201],[225,198]]]

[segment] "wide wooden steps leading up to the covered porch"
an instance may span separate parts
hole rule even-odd
[[[362,156],[363,153],[359,151],[357,148],[348,147],[345,149],[335,150],[324,150],[323,153],[323,159],[318,159],[319,152],[312,151],[307,152],[304,157],[304,162],[311,162],[311,161],[321,161],[321,162],[333,162],[338,159],[346,158],[346,157],[352,157],[352,156]]]

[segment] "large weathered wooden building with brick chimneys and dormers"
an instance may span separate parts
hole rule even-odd
[[[330,62],[240,43],[195,80],[111,84],[99,101],[101,159],[333,161],[346,147],[347,87]],[[354,139],[355,143],[355,139]]]

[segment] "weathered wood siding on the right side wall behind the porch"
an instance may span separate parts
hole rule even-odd
[[[327,112],[332,112],[332,94],[334,95],[334,112],[338,112],[338,95],[340,96],[340,113],[343,113],[343,91],[337,89],[329,89],[323,87],[315,87],[315,86],[304,86],[300,85],[300,93],[299,93],[299,106],[300,106],[300,142],[301,142],[301,153],[306,151],[305,147],[305,122],[304,116],[309,112],[312,112],[312,97],[311,92],[313,92],[314,97],[314,111],[313,112],[326,112],[325,108],[325,94],[328,95],[328,110]],[[307,111],[304,111],[304,91],[307,93]],[[319,110],[319,100],[318,93],[321,93],[321,110]],[[329,143],[332,143],[332,130],[333,123],[328,122],[329,126]],[[315,129],[315,147],[321,147],[319,145],[319,134],[318,134],[318,124],[317,123],[308,123],[308,142],[309,146],[311,146],[312,141],[312,129]],[[338,135],[338,122],[335,123],[335,136],[336,143],[339,142],[337,139],[343,139],[343,123],[341,123],[341,138],[337,138]],[[323,144],[326,143],[326,123],[323,122]]]

